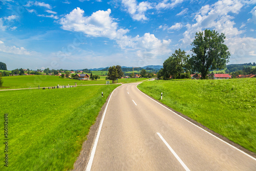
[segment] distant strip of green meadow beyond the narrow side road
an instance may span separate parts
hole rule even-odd
[[[8,76],[3,78],[3,87],[0,89],[24,89],[24,88],[38,88],[38,85],[42,87],[53,87],[59,85],[74,86],[75,82],[77,85],[86,85],[86,84],[105,84],[106,80],[104,76],[101,76],[100,79],[96,80],[75,80],[69,78],[60,78],[59,76],[51,75],[20,75],[20,76]],[[137,80],[136,80],[137,79]],[[118,83],[127,83],[145,80],[146,78],[125,78],[119,79]],[[110,81],[112,83],[112,81]]]

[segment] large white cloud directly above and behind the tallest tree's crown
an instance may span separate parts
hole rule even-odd
[[[239,1],[218,1],[209,6],[203,6],[195,15],[195,24],[187,24],[187,30],[183,33],[184,38],[180,41],[184,45],[189,45],[196,32],[204,29],[214,29],[224,33],[227,38],[240,35],[243,31],[233,27],[236,23],[228,13],[239,13],[243,4]]]

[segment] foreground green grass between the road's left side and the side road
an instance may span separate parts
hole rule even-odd
[[[72,169],[101,106],[118,86],[1,92],[1,130],[5,113],[9,119],[9,170]]]

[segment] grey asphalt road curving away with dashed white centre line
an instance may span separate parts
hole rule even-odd
[[[84,170],[256,170],[256,159],[137,89],[118,87]]]

